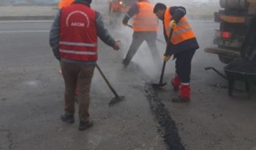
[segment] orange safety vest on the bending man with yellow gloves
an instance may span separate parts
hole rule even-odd
[[[170,21],[172,20],[172,15],[169,13],[170,8],[166,10],[164,13],[164,29],[166,29],[166,35],[169,37],[170,34]],[[190,27],[188,21],[186,20],[185,16],[183,16],[180,21],[176,24],[174,28],[174,32],[172,33],[172,38],[170,42],[174,45],[181,43],[182,41],[188,40],[190,38],[194,38],[196,35],[194,31]]]

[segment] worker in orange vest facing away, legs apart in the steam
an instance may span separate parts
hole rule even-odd
[[[147,0],[139,0],[136,4],[132,5],[130,10],[123,18],[123,25],[127,26],[130,18],[133,17],[133,40],[131,42],[130,49],[123,60],[123,65],[128,66],[136,54],[137,49],[143,41],[147,41],[147,44],[152,53],[153,59],[156,63],[161,63],[161,57],[156,47],[156,36],[159,29],[158,19],[153,13],[153,4]]]

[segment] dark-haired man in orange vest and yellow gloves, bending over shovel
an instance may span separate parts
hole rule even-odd
[[[172,98],[172,102],[189,102],[190,101],[190,74],[191,60],[199,48],[191,26],[185,18],[186,9],[184,7],[169,7],[158,3],[155,5],[153,12],[163,21],[164,37],[167,48],[164,54],[164,61],[174,55],[176,76],[172,79],[172,86],[175,91],[179,90],[178,98]],[[172,37],[169,39],[170,30],[173,29]]]

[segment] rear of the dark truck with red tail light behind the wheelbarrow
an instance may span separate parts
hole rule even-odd
[[[214,13],[214,21],[219,23],[213,40],[216,46],[205,52],[217,54],[227,64],[241,57],[244,40],[249,40],[246,34],[256,16],[256,0],[220,0],[219,4],[223,9]]]

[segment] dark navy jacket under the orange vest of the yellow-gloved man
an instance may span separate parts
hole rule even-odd
[[[176,23],[178,23],[178,21],[180,21],[180,19],[186,15],[186,9],[184,7],[174,6],[174,7],[171,7],[169,13],[172,15],[172,19],[175,20]],[[163,27],[164,27],[164,21],[163,21]],[[191,38],[189,40],[185,40],[181,43],[178,43],[178,45],[174,45],[168,39],[166,35],[166,30],[164,30],[164,38],[166,39],[166,43],[167,43],[166,55],[177,54],[178,52],[199,48],[196,38]]]

